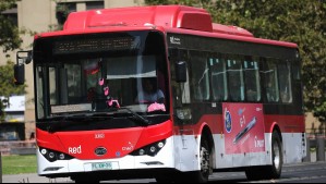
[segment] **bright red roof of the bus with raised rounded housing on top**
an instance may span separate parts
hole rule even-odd
[[[68,16],[63,32],[47,33],[43,36],[96,33],[119,28],[130,30],[136,27],[148,28],[148,26],[162,27],[168,32],[180,34],[298,47],[292,42],[255,38],[252,33],[241,27],[213,23],[206,10],[185,5],[131,7],[73,12]]]

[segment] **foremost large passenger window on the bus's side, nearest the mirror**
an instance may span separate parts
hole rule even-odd
[[[209,99],[209,69],[207,59],[202,52],[190,51],[192,86],[194,99],[204,101]]]

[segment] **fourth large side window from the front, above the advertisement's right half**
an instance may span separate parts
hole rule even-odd
[[[261,84],[258,62],[251,58],[244,60],[244,79],[247,101],[261,100]]]

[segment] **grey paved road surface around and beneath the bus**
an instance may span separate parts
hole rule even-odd
[[[282,176],[277,181],[263,181],[263,183],[325,183],[326,162],[312,162],[285,165]],[[73,183],[69,177],[47,179],[35,174],[3,175],[3,183]],[[106,181],[104,183],[155,183],[148,180]],[[244,172],[214,173],[209,183],[247,183]],[[256,182],[255,182],[256,183]]]

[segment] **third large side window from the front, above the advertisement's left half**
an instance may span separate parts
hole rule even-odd
[[[242,73],[242,62],[239,58],[228,58],[228,83],[229,83],[229,100],[244,100],[244,83]]]

